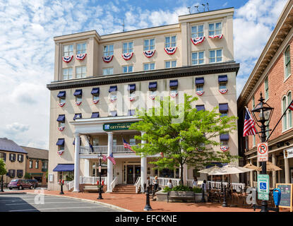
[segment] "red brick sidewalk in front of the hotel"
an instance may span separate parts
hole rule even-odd
[[[23,191],[35,194],[35,190]],[[60,195],[59,191],[43,191],[44,194],[49,195],[84,198],[92,201],[108,203],[134,212],[143,212],[143,208],[145,207],[145,194],[102,194],[104,199],[101,200],[97,199],[99,195],[97,193],[73,193],[65,191],[64,195]],[[153,211],[151,212],[253,212],[253,209],[222,207],[217,203],[167,203],[152,201],[151,199],[150,206],[153,208]],[[258,211],[259,210],[256,210],[256,212]]]

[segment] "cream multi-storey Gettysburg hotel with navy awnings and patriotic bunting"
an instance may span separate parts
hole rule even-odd
[[[219,107],[223,115],[237,116],[233,13],[234,8],[225,8],[179,16],[179,23],[156,28],[54,37],[54,81],[47,85],[48,188],[58,190],[59,179],[69,182],[67,188],[73,191],[96,182],[100,153],[113,153],[116,160],[116,165],[102,163],[107,191],[116,184],[143,185],[148,176],[178,179],[179,169],[153,169],[149,162],[160,155],[140,157],[124,148],[122,137],[138,144],[134,136],[143,131],[128,126],[138,121],[136,108],[155,105],[152,95],[174,95],[171,99],[181,102],[187,93],[198,96],[193,106],[198,110]],[[237,131],[218,141],[238,154]],[[186,165],[184,179],[194,175],[206,177]]]

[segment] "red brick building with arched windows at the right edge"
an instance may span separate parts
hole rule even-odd
[[[244,85],[237,100],[239,115],[239,153],[244,157],[244,164],[257,162],[256,146],[261,142],[255,136],[243,137],[245,107],[253,109],[258,105],[260,93],[265,102],[274,107],[273,116],[267,128],[273,130],[277,121],[292,101],[292,51],[293,51],[293,1],[288,1],[281,13],[268,43],[265,45],[251,76]],[[257,127],[258,131],[260,129]],[[267,131],[267,137],[271,131]],[[293,148],[292,112],[289,110],[280,121],[268,140],[269,161],[281,167],[282,170],[270,173],[271,187],[276,183],[293,182],[293,158],[284,157],[283,152]],[[254,174],[254,175],[253,175]],[[256,172],[243,178],[244,182],[256,181]]]

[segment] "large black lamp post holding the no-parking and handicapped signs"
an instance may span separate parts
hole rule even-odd
[[[258,105],[251,110],[256,124],[261,128],[261,142],[265,142],[266,140],[265,129],[270,123],[274,111],[273,107],[263,102],[264,100],[263,94],[261,93]],[[267,162],[261,162],[261,174],[267,174]],[[268,212],[268,203],[265,200],[261,201],[261,212]]]

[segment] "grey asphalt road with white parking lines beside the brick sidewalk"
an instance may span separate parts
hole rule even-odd
[[[35,194],[0,195],[0,212],[119,212],[99,203]]]

